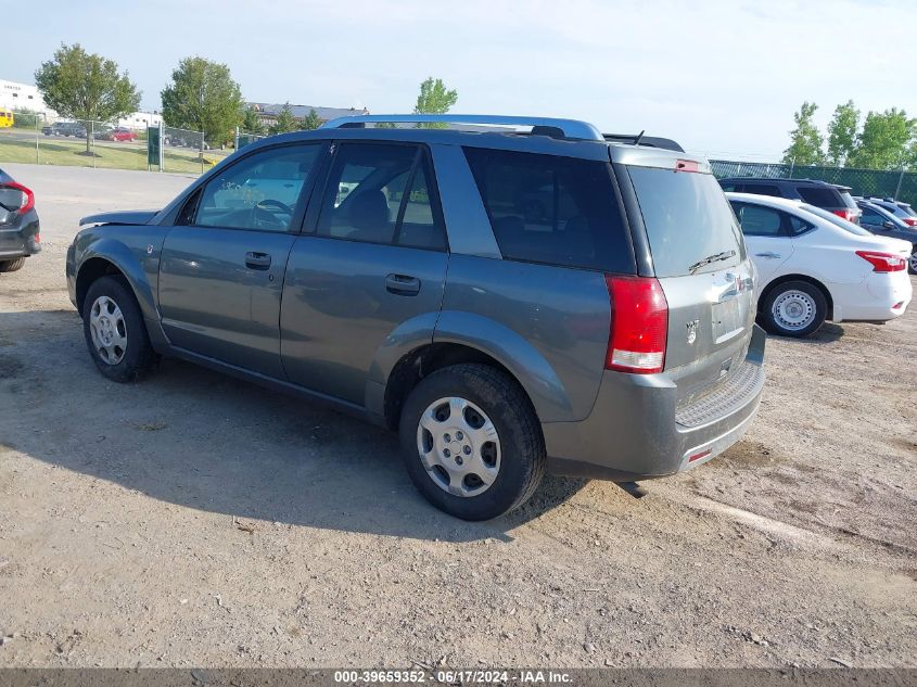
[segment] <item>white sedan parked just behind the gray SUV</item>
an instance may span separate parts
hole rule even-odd
[[[806,336],[826,319],[883,322],[904,315],[912,298],[906,241],[799,201],[726,198],[757,270],[759,322],[772,334]]]

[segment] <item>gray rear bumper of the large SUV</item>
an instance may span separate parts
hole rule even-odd
[[[591,414],[582,422],[542,429],[553,474],[616,482],[670,475],[702,465],[744,434],[764,389],[766,335],[756,327],[740,369],[713,394],[677,406],[665,374],[606,372]]]

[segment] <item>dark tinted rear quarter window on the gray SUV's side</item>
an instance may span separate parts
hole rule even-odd
[[[467,148],[506,259],[636,272],[608,163]]]

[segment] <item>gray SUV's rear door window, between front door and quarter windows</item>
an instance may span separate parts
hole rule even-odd
[[[416,145],[341,143],[318,236],[445,250],[431,179],[425,155]]]

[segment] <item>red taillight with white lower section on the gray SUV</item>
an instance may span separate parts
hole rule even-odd
[[[657,279],[606,276],[611,301],[607,370],[651,374],[665,367],[668,303]]]

